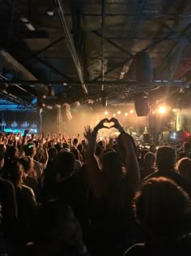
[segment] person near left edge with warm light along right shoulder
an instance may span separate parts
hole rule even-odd
[[[23,184],[23,166],[12,162],[9,167],[8,179],[14,184],[18,205],[18,236],[15,241],[20,244],[32,239],[32,220],[36,213],[36,197],[31,188]]]

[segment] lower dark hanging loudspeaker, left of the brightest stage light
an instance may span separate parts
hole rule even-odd
[[[139,97],[134,99],[134,108],[138,116],[146,116],[149,114],[148,99]]]

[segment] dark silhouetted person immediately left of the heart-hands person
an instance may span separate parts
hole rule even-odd
[[[61,150],[57,155],[57,181],[53,185],[52,195],[71,206],[74,215],[88,232],[87,184],[83,182],[83,170],[74,172],[74,154]],[[86,234],[84,233],[84,236]],[[85,237],[86,238],[86,237]]]

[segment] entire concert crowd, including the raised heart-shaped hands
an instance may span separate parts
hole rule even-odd
[[[190,196],[190,144],[136,146],[115,118],[0,136],[0,255],[191,255]]]

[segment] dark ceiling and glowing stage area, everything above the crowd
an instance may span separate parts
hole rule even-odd
[[[74,136],[116,115],[154,141],[190,132],[191,3],[171,2],[2,1],[2,131]]]

